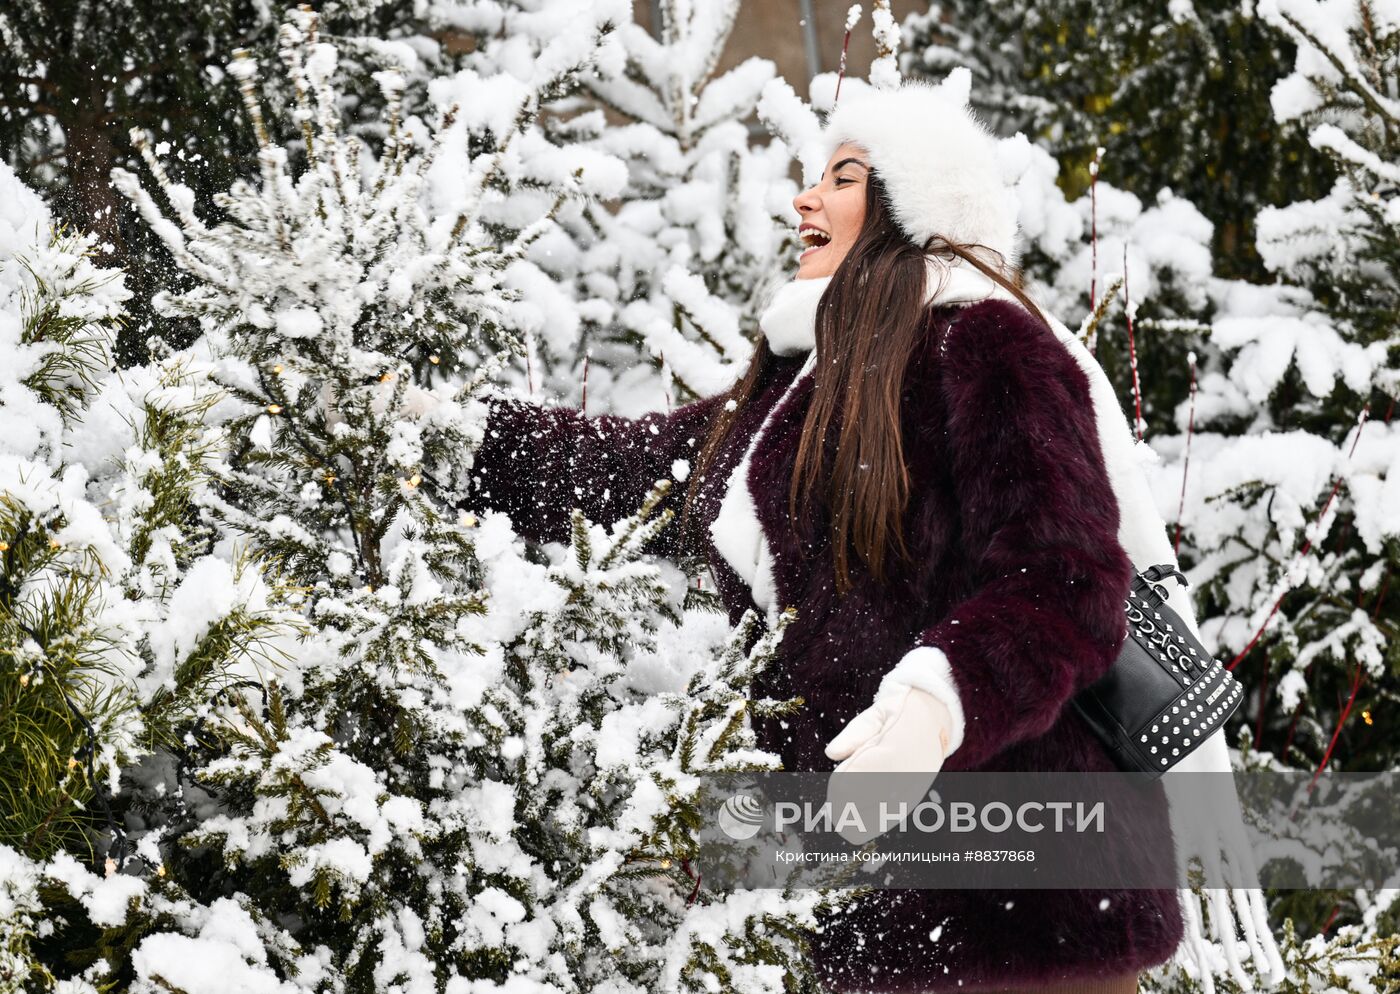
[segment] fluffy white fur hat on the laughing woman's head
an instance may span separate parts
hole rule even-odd
[[[832,112],[823,132],[829,158],[843,141],[861,146],[889,193],[900,230],[923,245],[932,235],[977,242],[1019,263],[1012,183],[1015,169],[998,139],[972,108],[972,73],[952,70],[941,84],[906,80],[899,88],[862,88]]]

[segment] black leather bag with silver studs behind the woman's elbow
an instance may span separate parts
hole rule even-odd
[[[1156,778],[1186,759],[1235,713],[1245,689],[1166,605],[1158,582],[1186,577],[1151,566],[1124,601],[1128,636],[1113,666],[1074,697],[1075,710],[1114,762]]]

